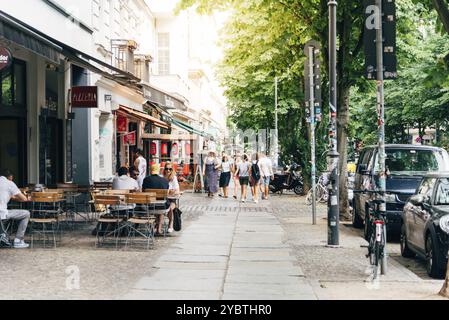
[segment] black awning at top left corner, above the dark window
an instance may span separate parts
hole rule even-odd
[[[27,24],[0,11],[0,38],[14,42],[45,59],[59,64],[62,48],[32,30]]]

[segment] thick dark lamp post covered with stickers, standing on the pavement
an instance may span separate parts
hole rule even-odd
[[[339,188],[338,188],[338,161],[337,149],[337,1],[328,2],[329,7],[329,171],[331,172],[329,184],[329,201],[327,211],[328,238],[330,246],[339,245]]]

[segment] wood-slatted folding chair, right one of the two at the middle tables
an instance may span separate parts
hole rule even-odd
[[[131,193],[126,195],[126,204],[133,206],[127,220],[128,237],[126,247],[136,240],[136,234],[146,240],[146,249],[150,248],[150,242],[154,244],[154,226],[156,219],[153,214],[153,204],[156,202],[155,193]]]

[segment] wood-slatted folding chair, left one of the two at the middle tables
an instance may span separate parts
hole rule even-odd
[[[119,195],[94,195],[95,211],[99,218],[97,219],[97,232],[95,247],[99,247],[105,243],[108,236],[115,239],[115,247],[118,247],[118,241],[120,238],[120,231],[122,230],[124,219],[120,216],[115,216],[114,211],[111,210],[111,206],[120,206],[121,198]],[[104,211],[102,209],[104,208]],[[103,226],[106,226],[106,230],[103,230]],[[112,226],[112,230],[110,227]]]

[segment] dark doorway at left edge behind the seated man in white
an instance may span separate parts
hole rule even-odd
[[[27,184],[26,125],[21,118],[0,118],[0,168],[14,174],[19,186]]]

